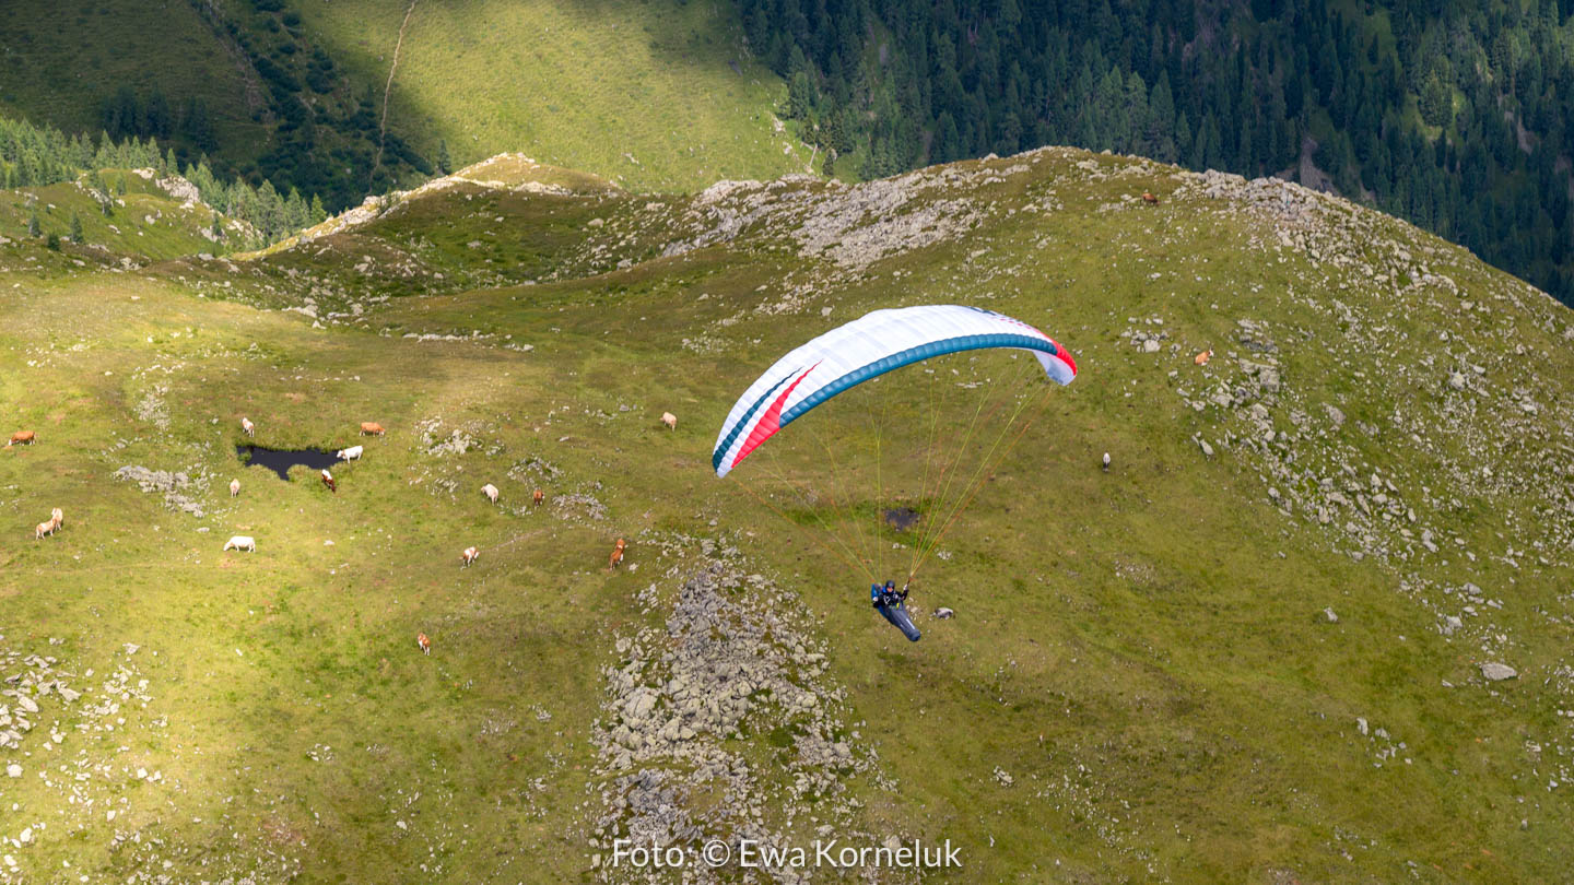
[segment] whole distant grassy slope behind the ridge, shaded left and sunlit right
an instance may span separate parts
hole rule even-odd
[[[444,146],[450,168],[524,151],[656,191],[811,159],[776,121],[781,79],[752,61],[721,0],[13,6],[0,112],[151,135],[184,162],[211,154],[220,175],[331,208],[419,183]]]

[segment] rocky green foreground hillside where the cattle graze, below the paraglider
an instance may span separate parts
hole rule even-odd
[[[0,430],[39,438],[0,455],[0,666],[39,707],[0,876],[623,882],[628,835],[952,839],[946,882],[1568,869],[1547,296],[1339,200],[1069,150],[697,197],[502,172],[252,261],[0,246]],[[908,644],[863,568],[916,539],[870,517],[937,518],[916,455],[1022,359],[866,384],[727,480],[710,449],[778,354],[922,302],[1080,376],[924,565]],[[282,482],[242,416],[365,457]]]

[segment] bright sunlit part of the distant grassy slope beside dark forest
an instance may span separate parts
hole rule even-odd
[[[456,164],[524,151],[658,191],[803,172],[809,159],[773,131],[781,80],[751,60],[721,0],[304,0],[301,11],[362,80],[381,87],[398,47],[389,124],[427,156],[442,139]]]

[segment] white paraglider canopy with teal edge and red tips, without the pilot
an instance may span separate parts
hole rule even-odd
[[[1031,351],[1061,384],[1077,376],[1077,362],[1053,339],[993,310],[959,304],[875,310],[793,350],[760,375],[721,425],[711,466],[727,476],[778,430],[842,391],[913,362],[981,348]]]

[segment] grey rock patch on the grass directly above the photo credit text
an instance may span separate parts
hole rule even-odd
[[[841,720],[844,691],[828,680],[823,650],[795,624],[798,600],[748,573],[735,548],[688,573],[674,568],[666,581],[680,584],[666,625],[619,638],[619,663],[603,671],[601,811],[592,838],[603,880],[656,876],[601,863],[614,839],[689,849],[740,838],[803,844],[793,825],[806,825],[811,809],[817,835],[852,833],[859,803],[847,795],[847,779],[870,772],[874,753]],[[641,600],[647,611],[663,605],[661,584]],[[760,757],[762,750],[771,756]],[[716,876],[700,863],[685,872],[685,880]],[[800,880],[792,869],[767,872]]]

